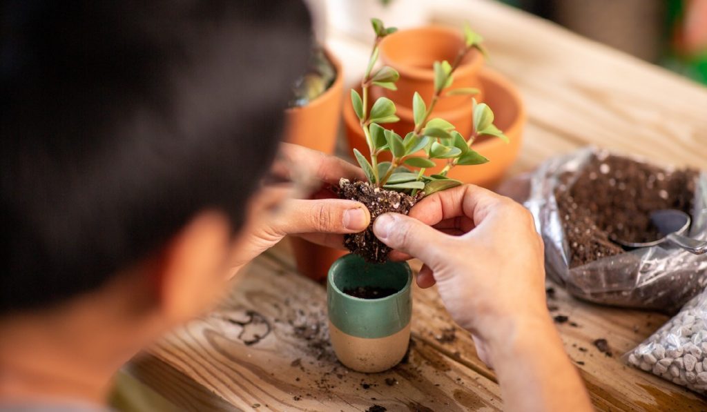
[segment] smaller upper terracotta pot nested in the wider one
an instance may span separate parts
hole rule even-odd
[[[400,30],[385,37],[380,42],[380,59],[400,73],[397,90],[384,90],[385,96],[396,105],[412,107],[412,96],[420,93],[425,102],[434,94],[435,61],[452,62],[464,47],[464,39],[459,30],[439,26],[427,26]],[[452,88],[475,87],[481,90],[477,101],[484,99],[484,86],[479,82],[479,71],[484,65],[484,56],[477,50],[469,52],[462,64],[454,72]],[[437,109],[441,112],[454,110],[469,102],[469,96],[445,96],[440,98]]]

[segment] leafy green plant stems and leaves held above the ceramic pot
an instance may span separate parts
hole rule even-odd
[[[448,61],[435,61],[434,94],[431,101],[426,103],[419,93],[414,94],[412,101],[414,130],[409,131],[404,137],[395,131],[385,129],[382,124],[397,122],[395,103],[388,98],[378,98],[368,110],[369,89],[378,86],[390,90],[397,90],[395,82],[399,74],[390,66],[375,69],[378,61],[378,45],[385,36],[395,33],[397,29],[386,28],[381,20],[371,19],[375,31],[373,51],[368,59],[368,67],[361,81],[361,95],[356,90],[351,90],[351,104],[361,124],[363,134],[366,136],[370,151],[370,162],[360,151],[354,149],[354,155],[359,165],[366,173],[368,182],[380,189],[390,189],[416,196],[420,191],[431,194],[440,190],[455,187],[462,182],[448,177],[452,167],[459,165],[480,165],[489,160],[471,148],[472,143],[479,136],[496,136],[503,141],[508,138],[493,124],[493,112],[485,103],[473,100],[473,131],[469,136],[462,136],[455,130],[455,126],[439,117],[430,119],[440,98],[447,95],[474,95],[479,90],[475,88],[452,88],[454,72],[461,64],[464,57],[473,49],[478,49],[486,54],[481,45],[482,38],[474,33],[469,25],[464,27],[464,47],[460,49],[452,63]],[[378,156],[383,152],[390,152],[392,161],[378,162]],[[425,175],[428,167],[436,166],[433,159],[444,159],[446,165],[436,175]],[[418,167],[413,171],[408,168]]]

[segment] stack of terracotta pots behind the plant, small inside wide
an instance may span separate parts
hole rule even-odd
[[[385,37],[380,42],[380,59],[382,63],[396,69],[400,78],[396,83],[397,90],[376,88],[370,89],[373,97],[385,96],[395,102],[397,123],[384,124],[387,129],[393,129],[397,134],[405,136],[414,129],[412,114],[412,98],[415,92],[420,93],[429,105],[434,93],[435,61],[454,61],[460,49],[464,47],[464,39],[460,30],[428,26],[410,30],[401,30]],[[500,139],[481,136],[474,142],[472,148],[489,158],[489,163],[476,166],[455,167],[449,177],[462,182],[479,184],[484,187],[494,187],[503,178],[506,169],[518,157],[522,126],[525,123],[525,107],[515,87],[499,73],[484,68],[484,56],[474,50],[466,55],[454,72],[454,82],[450,89],[478,88],[474,95],[477,102],[486,102],[496,114],[494,124],[510,139],[504,143]],[[443,95],[433,110],[430,119],[441,117],[456,126],[462,136],[472,132],[472,97],[469,95]],[[368,153],[366,138],[358,124],[358,119],[351,104],[344,104],[344,122],[346,136],[351,148],[357,148],[361,153]],[[385,153],[388,154],[388,153]],[[370,159],[369,159],[370,160]],[[390,160],[385,155],[379,160]],[[438,166],[428,169],[428,173],[440,171],[445,160],[437,160]]]

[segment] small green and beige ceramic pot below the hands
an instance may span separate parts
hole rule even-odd
[[[334,262],[327,278],[329,334],[337,358],[358,372],[397,365],[410,341],[412,271],[405,262],[369,264],[356,254]],[[392,288],[378,299],[355,298],[344,290]]]

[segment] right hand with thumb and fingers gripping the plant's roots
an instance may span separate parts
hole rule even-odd
[[[452,318],[472,331],[481,351],[522,322],[549,319],[542,240],[520,204],[464,185],[422,199],[409,216],[379,216],[373,230],[395,249],[392,259],[423,261],[418,285],[437,283]]]

